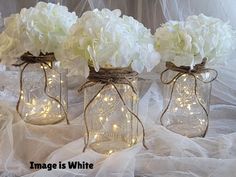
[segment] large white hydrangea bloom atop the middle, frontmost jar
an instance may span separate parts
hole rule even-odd
[[[100,67],[131,66],[134,71],[150,71],[159,63],[150,30],[120,10],[95,9],[85,12],[72,27],[62,59],[70,68],[74,60],[85,60],[98,71]]]

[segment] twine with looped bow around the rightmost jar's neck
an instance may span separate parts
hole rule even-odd
[[[204,105],[200,102],[199,97],[197,95],[197,81],[199,80],[200,82],[203,82],[205,84],[211,83],[217,78],[218,73],[215,69],[205,68],[206,61],[207,61],[207,58],[203,58],[202,62],[200,64],[196,64],[195,66],[193,66],[193,68],[191,68],[190,66],[180,66],[180,67],[178,67],[172,62],[166,62],[166,68],[167,69],[164,70],[161,73],[161,82],[163,84],[166,84],[166,85],[169,85],[169,84],[173,84],[173,85],[172,85],[172,88],[171,88],[170,99],[168,101],[168,104],[167,104],[166,108],[164,109],[164,111],[161,114],[161,118],[160,118],[161,124],[162,124],[162,118],[163,118],[164,114],[167,112],[167,110],[169,109],[170,103],[172,101],[172,96],[173,96],[175,84],[176,84],[177,80],[185,74],[190,75],[194,78],[194,95],[197,99],[198,104],[202,107],[202,109],[204,110],[204,112],[205,112],[205,114],[208,118],[207,108],[205,108]],[[163,80],[163,75],[169,70],[175,71],[175,72],[177,72],[177,74],[170,81],[164,81]],[[208,81],[204,81],[203,79],[200,79],[199,77],[196,76],[196,74],[201,74],[201,73],[206,73],[206,72],[210,73],[211,71],[214,73],[214,75]],[[208,127],[207,127],[207,129],[208,129]],[[206,132],[207,132],[207,129],[206,129]],[[205,134],[206,134],[206,132],[205,132]],[[205,136],[205,134],[203,136]]]

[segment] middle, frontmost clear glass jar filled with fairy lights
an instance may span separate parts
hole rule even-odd
[[[116,69],[109,70],[112,75],[116,75]],[[93,80],[90,81],[93,83]],[[137,90],[137,78],[130,84]],[[121,83],[106,85],[94,82],[92,85],[84,91],[85,108],[95,97],[86,111],[90,148],[102,154],[111,154],[136,144],[141,128],[137,118],[127,109],[137,115],[138,95],[133,88]],[[102,89],[104,85],[106,86]],[[98,93],[99,90],[101,91]]]

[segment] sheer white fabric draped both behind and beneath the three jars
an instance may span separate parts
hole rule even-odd
[[[3,17],[19,12],[37,1],[0,0]],[[188,15],[204,13],[228,20],[236,28],[234,0],[52,0],[82,12],[107,7],[120,8],[145,26],[155,28],[166,20],[183,20]],[[159,125],[162,109],[162,85],[155,72],[139,81],[139,115],[147,130],[147,146],[141,143],[105,156],[83,148],[83,95],[76,89],[84,81],[69,78],[70,125],[33,126],[25,124],[15,111],[18,96],[18,71],[0,67],[0,177],[222,177],[236,176],[236,55],[217,66],[219,78],[213,84],[210,127],[205,138],[186,138]],[[160,71],[161,69],[158,69]],[[29,169],[29,162],[87,161],[93,170]]]

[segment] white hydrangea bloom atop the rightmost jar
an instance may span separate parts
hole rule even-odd
[[[208,58],[208,64],[224,59],[235,47],[235,31],[220,19],[189,16],[186,21],[169,21],[156,30],[156,49],[162,59],[192,66]]]

